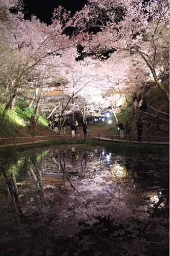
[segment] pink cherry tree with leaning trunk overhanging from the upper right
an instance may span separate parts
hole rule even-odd
[[[168,10],[166,0],[146,3],[89,0],[88,5],[76,13],[72,26],[87,33],[89,40],[85,41],[83,49],[91,56],[101,58],[104,53],[112,55],[122,50],[131,56],[139,55],[168,100],[168,91],[159,81],[160,76],[169,73]]]

